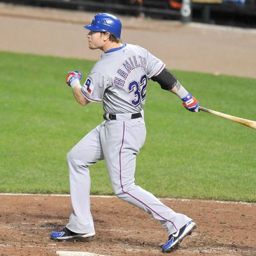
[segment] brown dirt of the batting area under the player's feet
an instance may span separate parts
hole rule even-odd
[[[101,255],[163,255],[166,232],[150,215],[115,197],[92,196],[96,235],[53,241],[49,234],[67,224],[69,196],[0,195],[0,255],[56,255],[56,251]],[[198,227],[174,255],[256,255],[256,204],[163,199],[191,216]]]

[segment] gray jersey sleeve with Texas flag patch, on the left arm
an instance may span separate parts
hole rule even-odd
[[[102,74],[92,69],[90,75],[81,87],[81,93],[84,98],[89,101],[102,102],[107,84]]]

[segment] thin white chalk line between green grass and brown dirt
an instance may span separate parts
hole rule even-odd
[[[0,195],[3,196],[67,196],[68,194],[29,194],[29,193],[0,193]],[[111,196],[111,195],[90,195],[92,198],[117,198],[117,196]],[[193,202],[193,200],[201,201],[201,202],[214,202],[218,204],[244,204],[244,205],[256,205],[254,202],[241,202],[241,201],[220,201],[220,200],[206,200],[206,199],[186,199],[186,198],[168,198],[163,197],[159,198],[159,200],[170,200],[170,201],[179,201],[179,202]]]

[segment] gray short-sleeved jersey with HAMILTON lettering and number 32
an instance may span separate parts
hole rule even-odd
[[[84,97],[103,102],[105,113],[133,113],[143,109],[148,79],[165,67],[138,45],[124,44],[102,54],[81,88]]]

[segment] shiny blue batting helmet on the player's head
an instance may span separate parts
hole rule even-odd
[[[93,17],[92,24],[84,26],[91,31],[109,32],[117,38],[121,36],[121,21],[109,13],[99,13]]]

